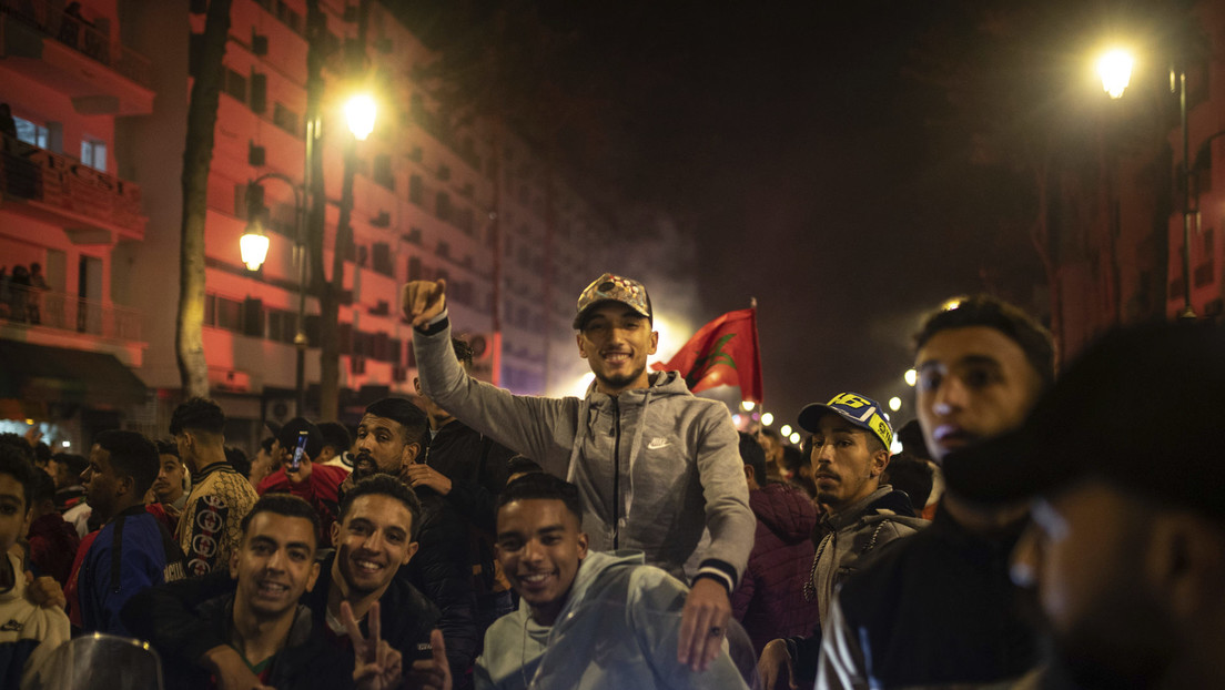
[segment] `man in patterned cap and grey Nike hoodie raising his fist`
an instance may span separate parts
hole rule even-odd
[[[681,663],[706,668],[723,643],[728,593],[745,570],[756,520],[728,409],[695,397],[675,371],[647,370],[659,333],[646,287],[605,273],[579,295],[578,352],[595,374],[582,400],[516,396],[467,375],[451,348],[445,293],[445,281],[403,290],[423,392],[575,483],[593,550],[639,549],[648,564],[680,575],[709,529],[677,650]]]

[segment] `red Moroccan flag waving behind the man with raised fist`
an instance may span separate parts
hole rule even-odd
[[[729,311],[710,321],[685,343],[660,371],[680,371],[690,391],[739,386],[744,400],[762,402],[762,364],[757,348],[757,310]]]

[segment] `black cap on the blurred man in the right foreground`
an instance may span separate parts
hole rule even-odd
[[[985,504],[1098,478],[1225,520],[1225,330],[1164,324],[1090,347],[1017,431],[949,453],[949,490]]]

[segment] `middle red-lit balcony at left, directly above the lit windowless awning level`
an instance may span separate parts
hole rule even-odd
[[[145,237],[138,185],[10,136],[0,140],[0,211],[61,226],[76,244]]]

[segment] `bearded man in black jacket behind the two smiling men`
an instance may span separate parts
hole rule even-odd
[[[349,487],[366,477],[390,474],[412,487],[412,467],[423,456],[429,418],[404,398],[387,397],[366,407],[358,424],[353,474],[341,484],[342,500]],[[413,491],[421,501],[420,552],[402,576],[439,609],[439,627],[447,643],[447,659],[456,678],[467,674],[477,656],[477,594],[468,559],[468,523],[451,502],[425,484]],[[461,681],[462,683],[462,681]]]

